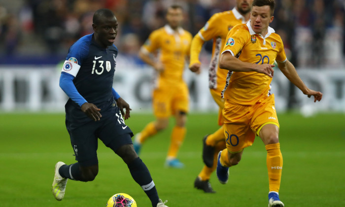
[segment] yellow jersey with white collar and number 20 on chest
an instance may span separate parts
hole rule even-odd
[[[247,24],[235,26],[227,35],[222,53],[229,51],[242,62],[254,64],[274,64],[285,62],[284,45],[279,35],[271,27],[265,36],[256,34]],[[271,95],[272,78],[268,75],[250,72],[231,72],[222,91],[224,99],[237,104],[252,105],[263,97]]]

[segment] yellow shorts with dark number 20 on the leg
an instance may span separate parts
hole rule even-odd
[[[243,148],[251,146],[255,136],[259,135],[261,128],[266,124],[275,124],[279,127],[274,100],[273,94],[254,105],[240,105],[225,100],[224,134],[226,148],[230,152],[240,152]]]

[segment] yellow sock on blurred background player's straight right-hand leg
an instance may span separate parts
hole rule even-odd
[[[168,158],[175,158],[177,157],[177,152],[180,149],[180,146],[186,136],[186,128],[185,127],[177,127],[173,128],[170,146],[168,150]]]

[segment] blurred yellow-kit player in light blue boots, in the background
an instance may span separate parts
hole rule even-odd
[[[156,87],[153,91],[153,111],[156,120],[150,122],[137,134],[134,147],[139,153],[143,142],[165,129],[169,117],[173,115],[176,125],[173,127],[166,166],[182,168],[176,157],[186,134],[186,114],[189,110],[189,92],[182,74],[186,58],[189,58],[192,35],[181,28],[183,20],[182,7],[172,5],[167,10],[168,24],[151,33],[141,47],[140,58],[152,66],[158,73]],[[160,57],[155,61],[150,54],[160,50]]]

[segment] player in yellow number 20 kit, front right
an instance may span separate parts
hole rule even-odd
[[[283,161],[278,140],[279,123],[271,93],[274,62],[305,95],[313,96],[314,102],[322,99],[322,93],[309,89],[287,60],[280,36],[269,27],[274,19],[274,9],[274,0],[254,0],[250,20],[229,32],[219,58],[220,68],[229,72],[222,92],[226,149],[218,154],[216,173],[219,181],[225,184],[229,167],[240,162],[243,149],[251,146],[255,136],[259,136],[267,150],[268,206],[283,207],[278,196]]]

